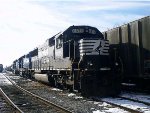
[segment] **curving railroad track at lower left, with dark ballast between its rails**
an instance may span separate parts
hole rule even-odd
[[[4,75],[5,76],[5,75]],[[19,112],[49,112],[49,113],[72,113],[68,109],[58,106],[40,96],[37,96],[13,82],[9,77],[5,76],[13,85],[3,86],[3,93],[5,92],[7,97],[15,104],[16,109],[20,109]]]

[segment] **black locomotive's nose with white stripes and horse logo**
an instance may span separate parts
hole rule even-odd
[[[81,67],[100,70],[109,65],[109,43],[101,39],[81,39],[79,41],[79,52]]]

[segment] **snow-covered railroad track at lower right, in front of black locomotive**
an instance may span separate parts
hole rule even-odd
[[[131,96],[132,98],[129,98],[128,96]],[[121,96],[117,96],[116,98],[101,99],[94,97],[93,99],[97,101],[106,102],[112,106],[119,107],[131,113],[150,113],[150,101],[148,101],[150,100],[150,97],[144,94],[123,93]]]

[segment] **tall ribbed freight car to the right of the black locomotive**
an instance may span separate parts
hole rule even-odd
[[[110,50],[118,51],[122,78],[139,88],[150,89],[150,17],[103,32]]]

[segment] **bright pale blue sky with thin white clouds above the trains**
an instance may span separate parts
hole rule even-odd
[[[150,0],[0,0],[0,63],[20,56],[71,25],[105,31],[150,15]]]

